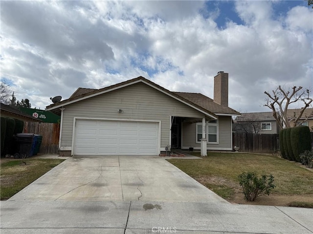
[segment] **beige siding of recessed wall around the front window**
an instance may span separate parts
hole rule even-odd
[[[196,126],[197,123],[183,123],[182,124],[182,148],[201,149],[201,144],[196,142]],[[231,117],[219,116],[218,119],[219,143],[207,144],[208,150],[232,150],[231,139]]]

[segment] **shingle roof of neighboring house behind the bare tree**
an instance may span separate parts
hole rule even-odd
[[[287,116],[289,118],[292,118],[295,116],[298,116],[301,109],[288,109],[287,110]],[[304,113],[301,117],[301,119],[304,119],[306,117],[313,119],[313,108],[307,108],[304,110]],[[275,120],[273,117],[273,112],[251,112],[251,113],[242,113],[241,117],[236,118],[237,121],[246,121],[246,120]]]

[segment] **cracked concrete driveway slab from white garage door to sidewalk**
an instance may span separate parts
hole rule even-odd
[[[158,156],[73,156],[13,200],[228,203]]]

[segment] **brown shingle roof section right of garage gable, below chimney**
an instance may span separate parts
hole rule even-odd
[[[180,97],[185,98],[206,110],[210,110],[214,114],[233,114],[233,115],[240,115],[238,111],[231,109],[228,106],[222,106],[214,102],[212,98],[208,98],[203,94],[199,93],[181,93],[181,92],[173,92],[178,94]]]

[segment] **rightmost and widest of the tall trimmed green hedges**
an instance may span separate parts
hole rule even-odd
[[[291,128],[291,148],[297,162],[301,162],[300,154],[311,150],[311,133],[308,126]]]

